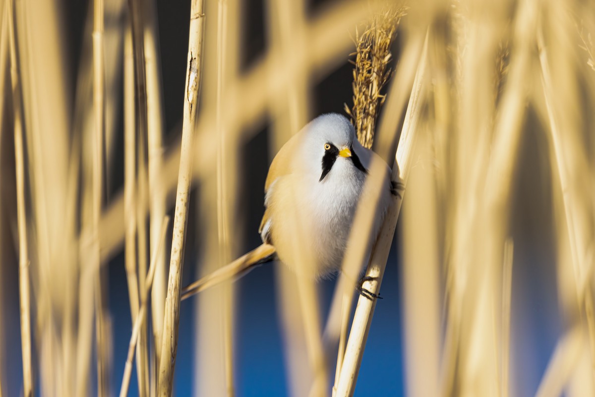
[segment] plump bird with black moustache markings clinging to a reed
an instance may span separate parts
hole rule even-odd
[[[336,113],[313,119],[281,147],[265,181],[265,211],[258,230],[281,262],[314,280],[340,271],[358,201],[368,197],[364,186],[374,157],[386,165],[359,143],[351,122]],[[389,166],[382,172],[367,257],[396,194]],[[296,250],[304,249],[300,244],[308,247],[313,260],[296,258]]]

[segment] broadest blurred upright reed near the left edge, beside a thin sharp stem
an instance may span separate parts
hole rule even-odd
[[[18,56],[23,87],[23,116],[27,126],[26,147],[31,182],[32,220],[35,235],[30,246],[32,291],[35,292],[42,393],[67,394],[62,383],[63,339],[58,334],[67,285],[74,282],[71,260],[62,260],[67,181],[68,132],[70,131],[70,81],[57,7],[50,3],[19,1],[15,4]],[[73,251],[70,251],[72,253]],[[37,288],[39,287],[39,288]],[[53,310],[52,310],[53,309]],[[64,310],[63,310],[64,309]],[[58,311],[59,310],[59,311]],[[38,332],[36,332],[38,331]],[[43,342],[46,343],[43,343]],[[89,352],[90,354],[90,352]],[[88,373],[86,374],[88,376]],[[72,379],[72,377],[70,377]]]

